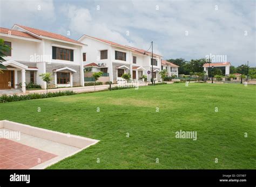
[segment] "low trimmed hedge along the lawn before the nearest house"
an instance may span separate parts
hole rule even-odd
[[[75,95],[73,91],[59,91],[59,92],[49,92],[49,93],[30,93],[28,95],[2,95],[0,96],[0,103],[15,102],[19,100],[31,100],[31,99],[43,99],[50,97],[59,96],[70,96]]]

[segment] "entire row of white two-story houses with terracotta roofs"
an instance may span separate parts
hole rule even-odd
[[[52,87],[84,86],[84,69],[102,71],[104,82],[118,83],[122,75],[130,73],[132,80],[143,75],[148,80],[161,81],[159,72],[166,69],[169,76],[178,76],[178,66],[164,61],[161,55],[143,49],[117,44],[112,41],[83,35],[73,40],[57,33],[17,25],[0,28],[0,36],[11,51],[6,53],[0,74],[0,89],[18,89],[25,92],[25,83],[46,88],[40,74],[50,73]],[[153,73],[147,74],[148,71]]]

